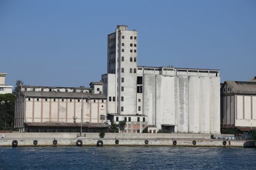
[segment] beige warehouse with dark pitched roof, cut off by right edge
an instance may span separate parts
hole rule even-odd
[[[223,132],[256,130],[256,77],[249,82],[225,81],[220,95]]]

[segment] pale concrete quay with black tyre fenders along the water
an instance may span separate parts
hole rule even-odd
[[[12,147],[13,141],[18,142],[17,147],[77,146],[78,140],[82,141],[82,146],[97,146],[99,140],[102,141],[103,146],[243,147],[245,142],[245,140],[210,139],[211,134],[106,133],[104,138],[99,138],[98,133],[83,133],[83,137],[78,135],[78,133],[3,133],[0,134],[0,147]],[[55,144],[54,139],[57,140]],[[37,140],[36,145],[35,140]]]

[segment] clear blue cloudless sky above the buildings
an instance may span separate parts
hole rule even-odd
[[[7,85],[89,86],[121,24],[138,31],[138,66],[256,76],[256,0],[0,0],[0,72]]]

